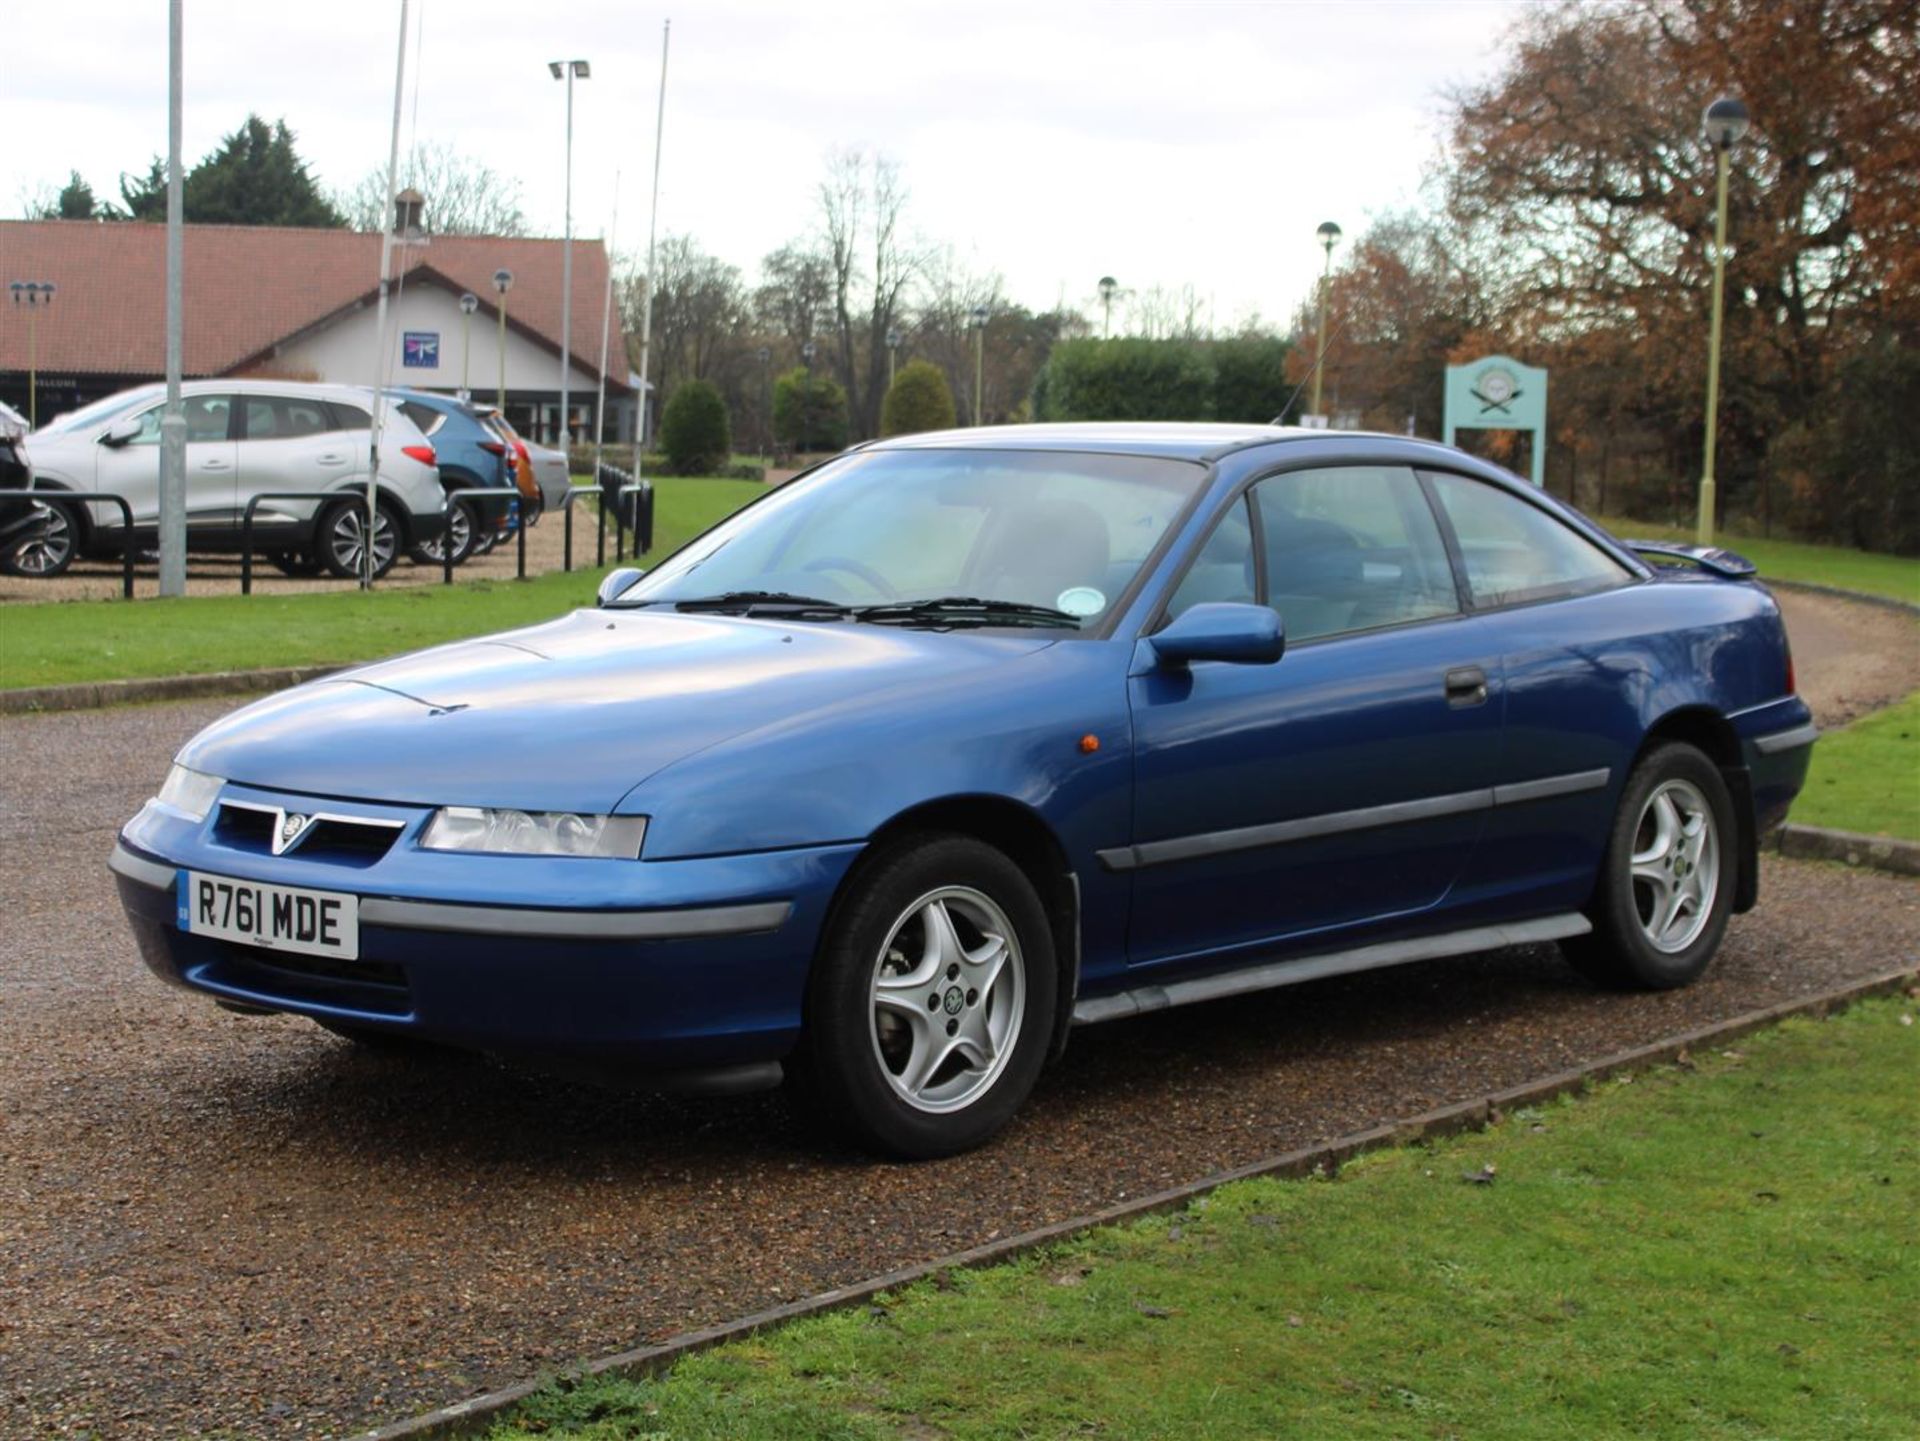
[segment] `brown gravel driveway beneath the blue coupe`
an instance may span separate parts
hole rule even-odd
[[[1811,670],[1803,654],[1803,673]],[[0,1435],[332,1435],[1912,963],[1920,888],[1768,860],[1686,992],[1553,948],[1094,1027],[985,1151],[240,1019],[140,965],[115,827],[227,702],[0,720]]]

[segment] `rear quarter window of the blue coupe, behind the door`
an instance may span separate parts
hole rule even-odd
[[[1498,485],[1448,474],[1430,480],[1459,539],[1476,606],[1592,595],[1632,579],[1597,545]]]

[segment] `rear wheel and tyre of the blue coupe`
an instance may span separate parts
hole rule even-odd
[[[1726,934],[1740,873],[1740,831],[1720,769],[1690,744],[1665,743],[1626,779],[1599,885],[1594,933],[1561,942],[1590,980],[1620,990],[1693,982]]]

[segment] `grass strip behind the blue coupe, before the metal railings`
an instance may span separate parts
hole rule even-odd
[[[743,480],[659,480],[655,487],[647,564],[766,493],[764,485]],[[561,518],[545,524],[557,526]],[[580,535],[591,555],[589,518],[574,537],[576,555]],[[372,595],[342,585],[280,597],[8,604],[0,608],[0,689],[372,660],[593,604],[601,574],[586,568],[526,581],[388,587]]]

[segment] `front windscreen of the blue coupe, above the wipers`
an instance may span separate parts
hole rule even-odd
[[[732,593],[843,606],[975,597],[1098,629],[1206,484],[1188,461],[1069,451],[862,451],[703,535],[624,602]]]

